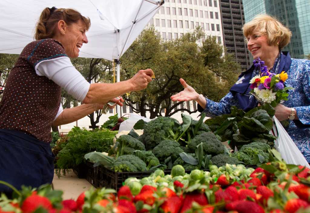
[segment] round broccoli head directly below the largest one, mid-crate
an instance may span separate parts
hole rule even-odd
[[[171,156],[172,161],[175,160],[183,150],[178,142],[164,140],[160,142],[152,152],[160,162],[164,162],[169,156]]]

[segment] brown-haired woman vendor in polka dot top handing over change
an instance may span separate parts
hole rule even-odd
[[[0,106],[0,180],[20,189],[51,183],[54,159],[51,126],[59,126],[102,109],[116,97],[139,91],[151,81],[151,69],[118,83],[90,84],[72,65],[88,43],[90,19],[73,9],[46,7],[35,41],[25,46],[10,71]],[[61,88],[84,104],[62,109]],[[11,190],[0,184],[0,192]]]

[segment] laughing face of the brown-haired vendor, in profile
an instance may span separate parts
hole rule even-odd
[[[82,20],[67,26],[61,39],[61,44],[70,58],[76,58],[79,55],[79,48],[83,43],[88,43],[86,29]]]

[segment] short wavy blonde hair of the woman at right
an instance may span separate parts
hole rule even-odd
[[[256,15],[254,19],[243,25],[243,35],[245,37],[254,33],[259,36],[266,36],[268,45],[278,45],[282,49],[292,37],[290,29],[285,27],[280,21],[270,15]]]

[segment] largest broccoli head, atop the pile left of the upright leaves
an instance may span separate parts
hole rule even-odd
[[[173,131],[175,122],[178,121],[171,117],[157,117],[145,124],[143,136],[139,139],[147,150],[153,149],[163,140],[175,140],[178,137]]]

